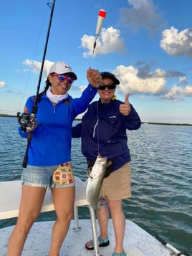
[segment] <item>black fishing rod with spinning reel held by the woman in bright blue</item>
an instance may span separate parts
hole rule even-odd
[[[22,167],[26,168],[27,167],[27,160],[28,160],[28,151],[29,151],[29,145],[30,142],[32,140],[32,132],[34,131],[34,128],[37,125],[41,125],[40,123],[36,123],[36,114],[37,114],[37,102],[39,100],[38,95],[39,95],[39,90],[40,90],[40,85],[41,85],[41,81],[42,81],[42,73],[43,73],[43,69],[44,69],[44,60],[45,60],[45,56],[46,56],[46,52],[47,52],[47,44],[49,42],[49,33],[50,33],[50,29],[51,29],[51,25],[52,25],[52,17],[53,17],[53,12],[54,12],[54,4],[55,4],[55,0],[53,0],[52,4],[51,3],[47,3],[47,5],[49,6],[49,8],[51,9],[51,14],[50,14],[50,18],[49,18],[49,27],[47,30],[47,38],[46,38],[46,42],[45,42],[45,46],[44,46],[44,54],[42,57],[42,65],[41,65],[41,70],[39,73],[39,81],[37,84],[37,93],[36,93],[36,98],[34,101],[34,105],[32,108],[32,114],[29,115],[27,113],[17,113],[17,118],[19,123],[21,124],[21,130],[22,131],[28,131],[28,136],[27,136],[27,148],[24,154],[24,160],[23,160],[23,164]]]

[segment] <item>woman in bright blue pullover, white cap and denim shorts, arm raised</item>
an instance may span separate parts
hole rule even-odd
[[[71,128],[75,117],[84,112],[101,84],[100,72],[89,68],[89,85],[80,98],[68,95],[77,76],[65,62],[56,62],[49,70],[44,91],[37,102],[37,122],[29,144],[27,168],[22,173],[22,194],[19,216],[11,234],[8,256],[20,256],[32,224],[37,219],[47,187],[57,219],[52,229],[49,256],[59,256],[59,250],[69,229],[75,202],[75,182],[71,161]],[[27,100],[24,113],[31,114],[34,97]],[[19,127],[21,137],[27,138],[29,127]]]

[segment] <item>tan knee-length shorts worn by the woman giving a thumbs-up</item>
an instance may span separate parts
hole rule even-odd
[[[121,200],[131,197],[131,170],[130,162],[125,163],[117,171],[113,171],[102,183],[100,196],[109,200]]]

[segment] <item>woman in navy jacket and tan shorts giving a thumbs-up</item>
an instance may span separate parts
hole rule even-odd
[[[120,84],[115,75],[110,72],[101,72],[101,75],[102,85],[98,88],[100,99],[90,104],[82,123],[72,128],[72,137],[82,137],[82,153],[87,158],[88,171],[99,153],[108,159],[107,176],[100,194],[100,202],[105,205],[97,211],[100,224],[99,246],[110,244],[107,236],[108,204],[116,242],[112,256],[125,256],[125,215],[122,200],[131,196],[131,159],[126,130],[140,128],[141,122],[135,108],[129,103],[129,94],[125,96],[125,103],[115,98],[116,85]],[[85,247],[93,250],[92,240]]]

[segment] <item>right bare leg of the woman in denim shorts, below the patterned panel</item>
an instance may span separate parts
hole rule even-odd
[[[54,222],[52,229],[52,243],[49,256],[59,256],[60,248],[62,247],[73,216],[75,186],[52,189],[52,198],[57,220]]]

